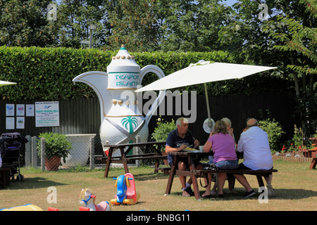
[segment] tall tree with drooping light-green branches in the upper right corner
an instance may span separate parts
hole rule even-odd
[[[268,17],[260,20],[263,4]],[[220,46],[238,62],[278,66],[271,76],[292,80],[296,117],[306,137],[317,127],[316,4],[313,0],[240,0],[232,6],[235,21],[219,32]]]

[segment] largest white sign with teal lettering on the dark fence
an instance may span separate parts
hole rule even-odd
[[[35,102],[35,127],[59,126],[58,101]]]

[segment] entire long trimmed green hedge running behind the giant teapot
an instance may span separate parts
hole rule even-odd
[[[119,50],[119,49],[118,49]],[[129,49],[128,49],[129,50]],[[66,49],[66,48],[21,48],[0,46],[0,80],[17,82],[17,85],[2,86],[0,98],[17,100],[45,100],[89,98],[95,96],[94,91],[82,83],[73,84],[77,75],[88,71],[104,71],[111,63],[111,56],[118,51],[100,51],[97,49]],[[223,63],[235,63],[235,58],[223,51],[212,52],[130,52],[135,56],[140,68],[145,65],[157,65],[165,75],[187,67],[199,60],[214,60]],[[268,75],[269,76],[269,75]],[[149,84],[153,76],[146,76],[142,85]],[[263,80],[263,77],[259,77]],[[272,79],[272,77],[270,78]],[[261,84],[251,79],[247,84]],[[266,81],[267,82],[267,81]],[[285,82],[285,81],[282,81]],[[279,84],[278,82],[271,82]],[[239,81],[216,82],[209,85],[211,95],[242,93],[246,82]],[[285,85],[285,84],[284,84]],[[249,87],[249,93],[265,91],[265,86]],[[203,85],[183,87],[183,90],[196,90],[204,94]],[[276,90],[276,89],[275,89]],[[237,92],[236,92],[237,91]],[[251,91],[251,92],[250,92]]]

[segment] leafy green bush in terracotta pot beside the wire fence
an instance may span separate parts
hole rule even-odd
[[[53,132],[45,132],[39,134],[39,141],[37,141],[38,154],[41,155],[41,141],[45,139],[45,166],[46,169],[57,170],[61,164],[61,158],[63,162],[66,162],[66,157],[72,149],[72,143],[70,143],[65,134],[58,134]]]

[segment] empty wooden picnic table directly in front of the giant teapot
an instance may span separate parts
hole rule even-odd
[[[108,148],[108,157],[106,158],[106,169],[104,171],[104,177],[108,177],[110,163],[122,163],[125,169],[125,173],[129,172],[128,162],[132,160],[156,160],[154,172],[158,172],[159,160],[166,159],[166,155],[162,155],[161,146],[165,146],[166,141],[152,141],[143,143],[120,143],[116,145],[105,145]],[[139,154],[139,155],[128,155],[134,147],[149,146],[152,153]],[[113,156],[113,150],[119,149],[120,156]]]

